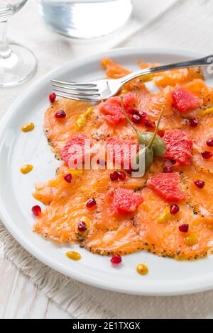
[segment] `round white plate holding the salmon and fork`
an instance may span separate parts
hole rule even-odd
[[[35,181],[47,181],[55,175],[60,164],[43,134],[43,115],[48,108],[51,91],[50,79],[92,81],[104,76],[99,60],[112,57],[129,69],[136,69],[136,61],[169,63],[190,60],[202,55],[181,50],[120,49],[76,60],[47,74],[29,87],[13,103],[0,126],[0,211],[1,219],[18,242],[43,263],[66,276],[92,286],[138,295],[177,295],[209,290],[213,287],[213,261],[175,261],[147,252],[123,257],[121,268],[114,269],[108,257],[91,254],[76,246],[82,260],[67,259],[67,248],[60,248],[33,233],[31,207],[36,201],[31,196]],[[213,85],[213,82],[208,83]],[[23,123],[33,121],[35,130],[23,133]],[[30,163],[34,169],[23,175],[23,164]],[[148,266],[147,276],[136,273],[136,266]]]

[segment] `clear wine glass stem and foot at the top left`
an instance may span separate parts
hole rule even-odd
[[[19,11],[28,0],[0,0],[0,87],[16,86],[30,79],[37,61],[27,47],[9,43],[7,20]]]

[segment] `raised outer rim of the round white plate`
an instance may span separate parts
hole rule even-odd
[[[18,108],[18,104],[24,101],[24,99],[29,95],[33,93],[33,90],[39,86],[39,84],[45,83],[47,81],[50,81],[50,77],[57,76],[60,74],[60,71],[66,68],[72,70],[75,67],[80,66],[80,64],[85,64],[91,60],[100,60],[102,57],[113,57],[114,55],[132,55],[134,53],[141,52],[141,55],[146,53],[152,53],[155,54],[167,54],[167,55],[179,55],[179,56],[186,56],[186,57],[203,57],[204,55],[199,52],[192,52],[189,50],[184,49],[168,49],[168,48],[158,48],[158,47],[149,47],[149,48],[141,48],[141,47],[121,47],[111,50],[105,50],[102,52],[97,52],[94,55],[89,55],[86,57],[81,57],[79,59],[71,60],[70,62],[67,62],[65,64],[62,64],[60,67],[57,67],[56,69],[51,70],[47,74],[45,74],[43,77],[40,77],[40,79],[36,80],[29,86],[23,93],[16,98],[15,101],[11,104],[8,111],[4,114],[3,118],[1,118],[0,122],[0,142],[1,137],[4,135],[4,130],[6,129],[7,123],[13,118],[13,115],[16,114],[16,108]],[[86,283],[87,285],[102,288],[104,290],[111,290],[111,291],[117,291],[120,293],[126,293],[126,294],[133,294],[133,295],[150,295],[150,296],[168,296],[168,295],[185,295],[185,294],[191,294],[191,293],[197,293],[205,290],[211,290],[213,288],[213,272],[212,274],[209,274],[209,278],[204,279],[201,278],[201,281],[195,278],[193,283],[187,283],[187,287],[182,284],[182,286],[179,286],[174,290],[174,288],[169,288],[167,286],[166,290],[135,290],[134,288],[123,288],[119,287],[119,284],[114,283],[108,283],[106,284],[106,281],[100,281],[96,280],[95,278],[85,277],[83,273],[80,271],[76,271],[75,269],[69,268],[69,273],[65,269],[65,265],[60,264],[60,262],[57,259],[53,259],[48,254],[43,254],[42,250],[40,250],[36,245],[34,245],[32,242],[28,241],[26,239],[26,236],[23,235],[21,230],[16,227],[16,225],[13,224],[12,219],[10,218],[10,215],[6,208],[4,208],[4,203],[2,202],[2,199],[0,198],[0,218],[1,221],[4,223],[4,226],[6,229],[11,233],[11,235],[18,241],[21,246],[26,249],[27,252],[35,256],[36,259],[43,262],[43,264],[49,266],[50,268],[54,269],[55,271],[58,271],[62,273],[65,276],[69,276],[70,278],[73,278],[76,281],[80,281],[82,283]],[[192,282],[192,281],[191,281]]]

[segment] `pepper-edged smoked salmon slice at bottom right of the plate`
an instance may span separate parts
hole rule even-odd
[[[165,223],[159,223],[158,217],[168,204],[149,188],[143,189],[146,198],[141,203],[136,224],[141,222],[140,235],[143,247],[153,254],[169,256],[178,260],[199,259],[207,255],[213,231],[202,218],[194,218],[193,210],[187,203],[179,203],[177,215],[169,215]],[[179,226],[189,225],[189,232],[180,232]],[[186,243],[187,236],[196,235],[198,242],[192,247]]]

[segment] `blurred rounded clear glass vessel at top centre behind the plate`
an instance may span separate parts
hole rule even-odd
[[[95,38],[121,28],[131,0],[38,0],[45,23],[62,35]]]

